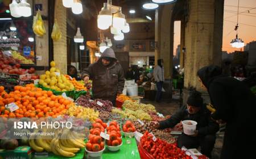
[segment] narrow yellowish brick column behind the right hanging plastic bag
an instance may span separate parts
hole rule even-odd
[[[67,9],[61,0],[55,0],[54,17],[57,19],[62,36],[59,41],[53,41],[53,58],[56,67],[65,74],[67,73]]]

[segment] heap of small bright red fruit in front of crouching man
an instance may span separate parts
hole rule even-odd
[[[141,145],[146,152],[150,153],[156,159],[180,158],[191,159],[190,156],[185,154],[184,150],[177,148],[174,144],[168,144],[166,141],[156,139],[153,141],[151,133],[146,132],[141,137]]]

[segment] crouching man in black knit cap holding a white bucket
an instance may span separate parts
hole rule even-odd
[[[194,120],[197,125],[194,135],[182,133],[178,137],[177,146],[188,149],[201,147],[201,153],[210,157],[219,125],[210,118],[210,111],[203,104],[203,98],[198,91],[193,91],[189,96],[187,106],[181,107],[171,118],[155,124],[159,129],[173,128],[181,120]]]

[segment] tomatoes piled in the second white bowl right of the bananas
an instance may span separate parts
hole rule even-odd
[[[116,147],[122,144],[120,127],[117,122],[110,122],[109,127],[107,127],[107,131],[110,139],[106,142],[108,146]]]

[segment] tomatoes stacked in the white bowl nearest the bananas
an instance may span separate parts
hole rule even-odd
[[[105,131],[105,128],[107,127],[106,123],[102,122],[101,119],[96,119],[96,123],[93,123],[93,128],[90,129],[90,135],[89,140],[86,143],[85,147],[86,150],[92,151],[92,152],[98,152],[102,149],[104,149],[104,139],[100,136],[101,132]]]

